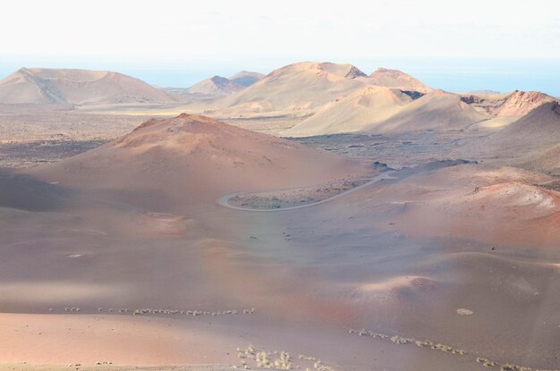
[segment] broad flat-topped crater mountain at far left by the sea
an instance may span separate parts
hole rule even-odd
[[[0,103],[88,105],[170,102],[148,83],[118,72],[21,68],[0,80]]]

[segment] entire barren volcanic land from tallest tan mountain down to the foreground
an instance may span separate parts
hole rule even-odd
[[[0,368],[558,369],[554,101],[334,63],[230,93],[1,107]]]

